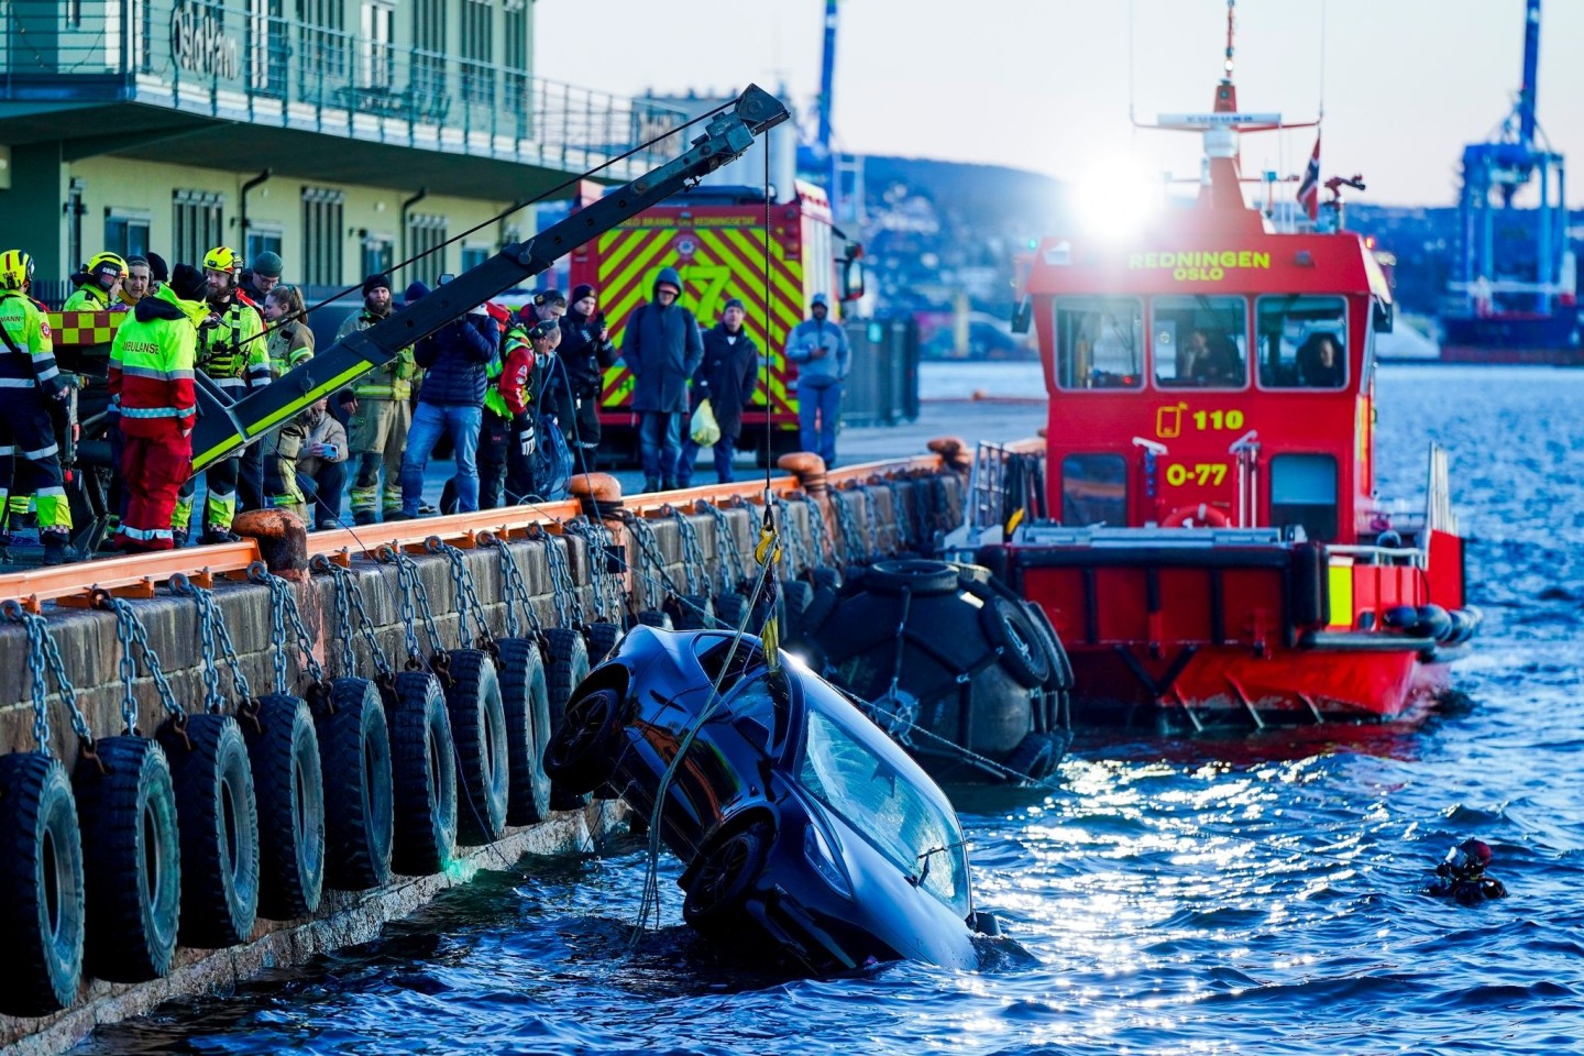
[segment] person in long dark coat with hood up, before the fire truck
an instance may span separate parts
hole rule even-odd
[[[687,420],[687,380],[703,359],[692,312],[678,304],[683,280],[675,268],[654,279],[653,299],[627,318],[621,355],[632,370],[632,410],[638,415],[643,489],[676,486],[676,456]]]

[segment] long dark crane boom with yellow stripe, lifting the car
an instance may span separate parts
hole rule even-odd
[[[702,176],[740,157],[754,138],[789,117],[776,97],[748,85],[681,157],[667,161],[578,209],[539,234],[513,242],[485,263],[464,271],[432,294],[391,312],[374,326],[348,334],[307,363],[282,374],[269,386],[230,404],[203,374],[198,375],[198,426],[193,429],[192,472],[227,458],[250,440],[290,421],[314,401],[328,396],[372,367],[390,363],[402,348],[448,321],[550,266],[583,242],[643,212]]]

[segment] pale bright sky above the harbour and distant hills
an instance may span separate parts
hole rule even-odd
[[[819,93],[824,0],[537,0],[535,73],[619,95]],[[1131,28],[1129,28],[1131,27]],[[1323,32],[1324,28],[1324,32]],[[1193,177],[1188,133],[1139,131],[1209,111],[1224,0],[841,0],[838,146],[1007,165],[1074,182]],[[1584,157],[1584,0],[1546,0],[1540,125]],[[1323,176],[1362,174],[1383,206],[1457,201],[1464,144],[1489,138],[1522,73],[1524,0],[1240,0],[1239,108],[1313,120]],[[1296,174],[1313,130],[1243,136],[1243,174]],[[1568,187],[1584,206],[1584,180]]]

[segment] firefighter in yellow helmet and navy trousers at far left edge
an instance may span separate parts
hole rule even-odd
[[[49,320],[27,296],[32,285],[33,258],[22,250],[0,253],[0,510],[13,478],[25,481],[38,507],[44,564],[59,565],[70,553],[71,507],[48,401],[63,399],[67,383],[55,366]],[[25,473],[17,472],[19,461]],[[0,540],[10,543],[5,534]]]

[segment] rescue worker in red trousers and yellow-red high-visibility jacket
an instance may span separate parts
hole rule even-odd
[[[198,328],[209,317],[208,283],[192,264],[133,309],[116,331],[109,353],[109,391],[120,401],[127,513],[111,540],[116,549],[171,549],[176,497],[192,470],[192,432],[198,421],[193,364]]]

